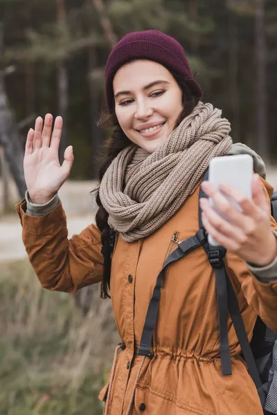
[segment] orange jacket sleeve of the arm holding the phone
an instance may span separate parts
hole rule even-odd
[[[270,206],[272,187],[263,180],[262,183]],[[271,228],[276,233],[277,224],[272,216]],[[240,291],[252,310],[277,332],[277,279],[269,279],[268,282],[258,279],[247,264],[232,252],[226,253],[226,266],[231,279],[239,282]]]

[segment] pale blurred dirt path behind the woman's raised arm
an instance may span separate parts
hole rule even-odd
[[[277,190],[277,167],[267,169],[267,181]],[[0,183],[1,184],[1,183]],[[94,220],[96,203],[89,193],[96,183],[93,181],[67,181],[59,192],[67,217],[69,237],[81,232]],[[12,199],[18,201],[15,187],[12,185]],[[1,206],[1,192],[0,192]],[[27,257],[21,239],[21,224],[17,214],[3,216],[0,219],[0,261]]]

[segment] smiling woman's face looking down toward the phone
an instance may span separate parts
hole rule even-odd
[[[113,86],[120,127],[152,153],[173,131],[183,109],[175,78],[163,65],[139,59],[118,69]]]

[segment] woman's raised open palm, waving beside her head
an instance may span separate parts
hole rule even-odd
[[[64,151],[64,162],[60,165],[58,150],[62,136],[62,117],[55,119],[46,114],[45,119],[38,117],[35,131],[28,132],[25,155],[24,176],[30,200],[38,205],[50,201],[69,177],[73,165],[72,146]],[[42,128],[43,127],[43,128]]]

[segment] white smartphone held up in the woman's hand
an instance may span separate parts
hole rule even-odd
[[[238,156],[224,156],[214,157],[210,160],[208,169],[208,181],[213,183],[217,189],[222,182],[228,182],[237,187],[249,199],[252,199],[251,182],[253,178],[253,158],[249,154],[239,154]],[[231,197],[226,196],[227,199],[241,211],[240,205],[236,203]],[[211,198],[208,199],[213,208],[228,220],[213,203]],[[217,241],[208,235],[208,243],[213,246],[218,246]]]

